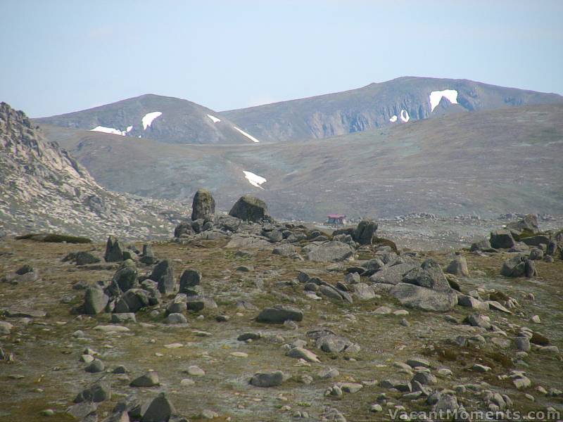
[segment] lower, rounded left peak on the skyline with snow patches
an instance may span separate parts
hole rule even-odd
[[[37,122],[165,143],[254,143],[249,134],[217,116],[191,101],[146,94]]]

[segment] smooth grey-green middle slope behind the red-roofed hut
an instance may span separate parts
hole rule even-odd
[[[243,193],[272,215],[324,221],[410,212],[563,213],[563,105],[453,113],[310,142],[163,145],[45,126],[107,188],[155,198],[213,191],[228,210]],[[251,184],[245,172],[265,179]]]

